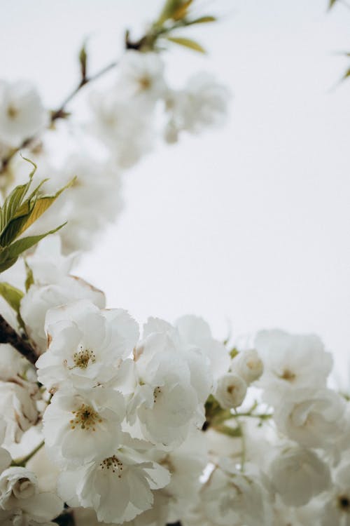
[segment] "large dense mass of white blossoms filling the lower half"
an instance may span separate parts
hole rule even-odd
[[[18,313],[38,359],[0,346],[0,523],[346,524],[349,410],[318,337],[265,330],[230,349],[195,316],[140,333],[59,247],[4,274],[31,276]]]

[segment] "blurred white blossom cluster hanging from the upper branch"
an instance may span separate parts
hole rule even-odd
[[[46,129],[49,112],[36,88],[27,81],[3,81],[1,186],[8,193],[27,177],[22,160],[13,155],[19,148],[38,163],[36,178],[48,179],[41,187],[43,193],[54,194],[75,177],[68,197],[59,197],[31,233],[68,220],[60,233],[64,252],[87,250],[123,208],[125,170],[151,151],[159,137],[176,142],[183,131],[197,134],[223,123],[229,98],[228,89],[204,73],[175,90],[165,80],[160,53],[127,50],[112,85],[90,93],[89,121],[60,119],[52,130]]]

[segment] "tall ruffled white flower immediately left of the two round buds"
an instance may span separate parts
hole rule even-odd
[[[204,403],[213,383],[209,359],[183,341],[172,325],[150,318],[134,361],[130,422],[137,416],[145,438],[153,443],[179,445],[190,429],[204,422]]]

